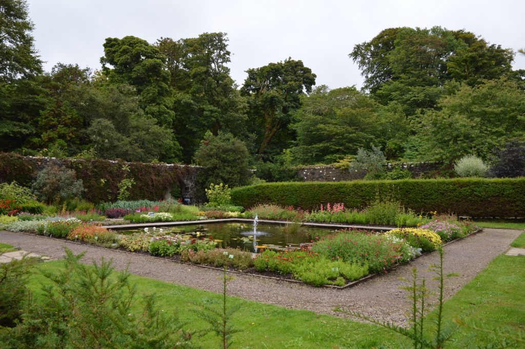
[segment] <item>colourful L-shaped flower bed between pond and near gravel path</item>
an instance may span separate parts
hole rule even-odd
[[[258,255],[231,248],[218,249],[212,237],[199,239],[190,235],[165,234],[163,229],[156,228],[144,228],[142,232],[123,236],[97,225],[81,223],[75,218],[15,221],[9,224],[8,229],[122,248],[130,252],[148,253],[199,265],[226,266],[266,275],[270,273],[272,276],[299,280],[316,287],[341,287],[369,274],[386,272],[417,257],[421,252],[436,249],[442,241],[448,241],[440,238],[438,233],[443,230],[443,222],[438,219],[433,222],[428,229],[402,228],[385,234],[343,230],[303,246],[300,250],[266,249]],[[451,231],[455,231],[455,227],[461,232],[472,228],[468,224],[464,227],[460,223],[446,223],[448,225],[445,226]],[[435,231],[429,230],[430,228]],[[454,234],[447,233],[447,236],[453,237]]]

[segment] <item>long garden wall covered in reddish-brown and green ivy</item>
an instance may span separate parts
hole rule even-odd
[[[75,170],[85,189],[83,198],[93,203],[117,199],[118,184],[124,178],[122,166],[130,168],[128,178],[135,184],[130,189],[130,200],[159,200],[167,197],[189,198],[191,203],[203,200],[204,187],[199,184],[202,167],[178,164],[146,164],[101,159],[79,160],[54,157],[21,156],[0,153],[0,183],[16,181],[30,186],[39,171],[48,165]]]

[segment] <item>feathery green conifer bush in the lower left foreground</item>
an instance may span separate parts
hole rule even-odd
[[[114,273],[111,261],[104,259],[86,266],[79,262],[83,254],[65,251],[64,270],[44,272],[41,301],[30,302],[23,321],[0,333],[3,347],[193,347],[191,335],[156,306],[154,295],[139,301],[127,270]]]

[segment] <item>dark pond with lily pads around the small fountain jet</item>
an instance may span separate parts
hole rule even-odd
[[[116,226],[115,228],[117,228]],[[283,249],[299,248],[302,243],[318,240],[320,237],[333,234],[335,229],[312,228],[306,226],[292,227],[286,224],[254,225],[250,223],[211,223],[179,226],[148,227],[150,234],[177,234],[192,238],[213,238],[217,247],[239,248],[245,251],[258,252],[260,248]],[[134,234],[144,232],[144,228],[134,230],[119,230],[119,234]]]

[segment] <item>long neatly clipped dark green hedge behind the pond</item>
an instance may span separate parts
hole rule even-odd
[[[469,217],[525,216],[525,177],[401,179],[398,181],[283,182],[234,188],[233,204],[277,204],[316,209],[344,203],[363,208],[376,200],[395,200],[416,213],[455,213]]]

